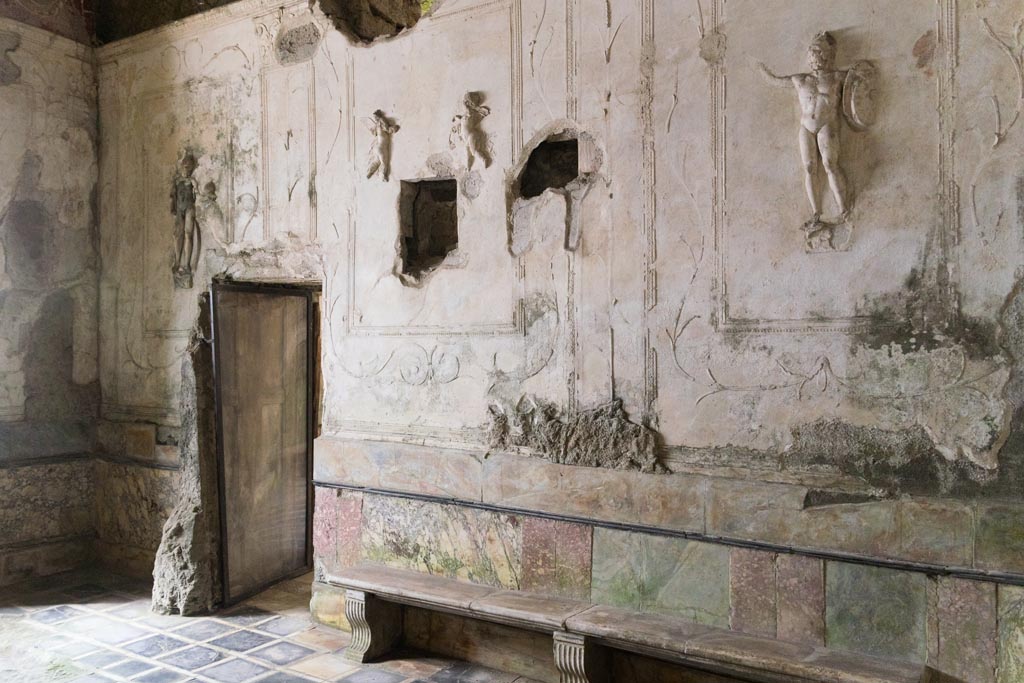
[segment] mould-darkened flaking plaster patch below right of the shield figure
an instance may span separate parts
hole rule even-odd
[[[845,388],[864,405],[885,405],[894,425],[912,420],[942,459],[995,470],[1012,425],[1012,323],[1005,312],[997,321],[961,313],[943,273],[927,272],[862,304],[869,324],[853,337],[858,370]]]

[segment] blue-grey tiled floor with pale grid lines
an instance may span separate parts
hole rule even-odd
[[[530,683],[465,663],[400,653],[342,657],[347,634],[309,621],[311,578],[208,617],[150,611],[150,587],[76,572],[0,589],[3,683]]]

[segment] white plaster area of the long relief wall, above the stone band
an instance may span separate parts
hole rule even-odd
[[[956,0],[446,0],[367,47],[305,2],[243,0],[101,48],[103,413],[175,423],[197,295],[227,272],[323,283],[330,435],[482,450],[490,404],[616,397],[681,466],[728,447],[742,458],[713,464],[758,478],[825,420],[923,429],[935,457],[997,473],[1024,120],[993,146],[1022,106],[1021,65],[984,23],[1012,43],[1020,18],[1014,2]],[[305,20],[325,34],[315,55],[279,65],[276,32]],[[755,66],[804,70],[825,29],[841,65],[877,65],[880,117],[843,133],[848,248],[807,253],[795,95]],[[494,164],[472,175],[449,147],[466,91],[492,108]],[[365,177],[360,119],[378,109],[401,126],[389,183]],[[549,195],[513,257],[508,176],[563,120],[602,160],[582,245],[564,249]],[[195,290],[170,270],[183,146],[217,185]],[[438,169],[478,195],[460,194],[459,258],[408,287],[399,180]]]

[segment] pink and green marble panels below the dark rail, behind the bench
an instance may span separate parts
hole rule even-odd
[[[316,499],[324,518],[315,531],[318,571],[384,562],[788,642],[928,661],[948,680],[1016,683],[1014,676],[1024,672],[1024,592],[1013,586],[369,492],[317,486]],[[322,623],[347,628],[343,591],[316,584],[311,608]],[[414,624],[424,642],[438,637],[431,618]],[[471,637],[482,637],[477,631],[478,625],[459,626],[462,635],[445,636],[445,647],[470,647]],[[627,664],[643,668],[637,661],[616,667]]]

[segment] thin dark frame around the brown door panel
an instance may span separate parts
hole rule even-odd
[[[321,291],[319,283],[295,282],[295,283],[267,283],[267,282],[240,282],[228,280],[214,280],[210,288],[210,316],[212,318],[213,332],[213,386],[214,386],[214,412],[217,421],[217,488],[218,508],[220,526],[220,595],[223,606],[228,607],[238,604],[258,593],[262,593],[270,586],[287,580],[301,577],[308,573],[313,568],[313,438],[315,436],[316,423],[316,368],[318,358],[317,329],[319,321],[316,319],[317,307],[314,302],[315,295]],[[272,294],[275,296],[302,297],[306,301],[306,563],[303,567],[295,571],[273,580],[267,584],[257,586],[241,595],[230,595],[228,587],[228,558],[227,558],[227,490],[224,487],[224,430],[223,416],[221,414],[222,389],[221,380],[221,356],[220,344],[218,343],[218,332],[220,319],[217,315],[217,294],[221,292],[240,292],[245,294]]]

